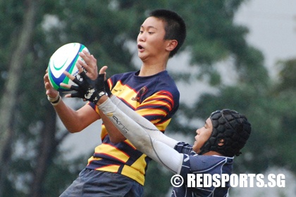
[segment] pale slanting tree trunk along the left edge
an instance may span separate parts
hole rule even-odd
[[[0,132],[0,196],[3,190],[4,177],[8,170],[11,143],[13,143],[13,136],[15,135],[13,128],[13,111],[14,105],[17,103],[19,78],[21,70],[23,70],[23,61],[26,51],[32,39],[32,32],[35,23],[37,1],[31,0],[25,2],[26,9],[23,19],[23,25],[20,29],[20,34],[15,44],[13,44],[14,52],[11,56],[11,63],[9,64],[8,78],[4,85],[4,94],[1,98],[0,106],[0,125],[2,127]],[[7,159],[8,158],[8,159]]]

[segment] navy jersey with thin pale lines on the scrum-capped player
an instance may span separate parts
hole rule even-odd
[[[197,155],[192,151],[192,145],[185,142],[178,142],[175,150],[184,153],[183,163],[180,175],[184,179],[184,184],[180,187],[174,187],[172,197],[226,197],[230,187],[226,182],[225,187],[187,187],[187,174],[228,174],[230,176],[233,170],[233,158],[217,155]],[[202,184],[202,182],[200,183]]]

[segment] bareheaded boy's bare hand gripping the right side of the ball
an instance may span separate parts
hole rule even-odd
[[[90,77],[91,80],[96,80],[98,76],[97,59],[87,51],[80,52],[79,56],[83,61],[78,60],[76,66],[82,66],[87,71],[87,77]]]

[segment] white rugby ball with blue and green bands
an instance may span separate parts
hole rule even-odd
[[[54,89],[58,91],[70,91],[64,87],[60,87],[61,82],[64,84],[75,85],[63,71],[66,70],[71,75],[76,76],[78,74],[78,68],[75,66],[75,63],[78,60],[83,61],[79,56],[79,52],[88,49],[80,43],[69,43],[58,48],[54,54],[52,54],[49,59],[48,73],[49,73],[49,82]]]

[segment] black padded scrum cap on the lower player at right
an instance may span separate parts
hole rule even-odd
[[[200,148],[199,154],[216,151],[228,157],[240,155],[240,149],[245,146],[251,134],[251,124],[247,117],[235,110],[224,109],[211,113],[209,118],[212,124],[211,136]]]

